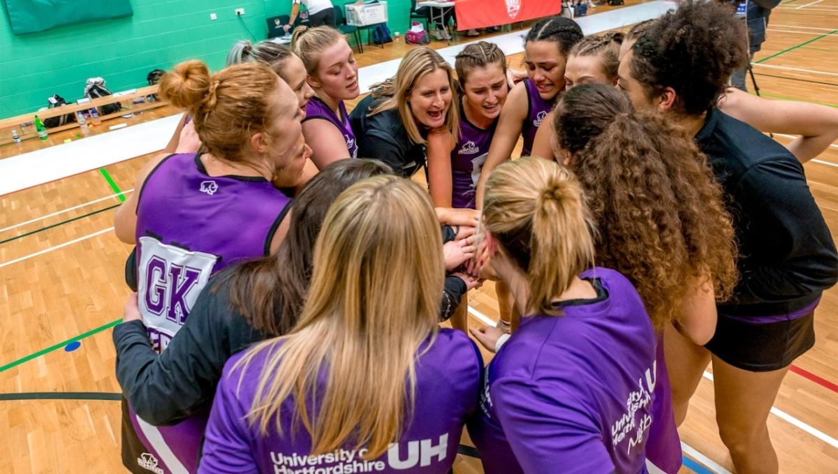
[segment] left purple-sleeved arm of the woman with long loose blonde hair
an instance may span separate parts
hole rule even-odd
[[[199,474],[256,474],[259,464],[253,457],[245,415],[250,409],[239,397],[236,386],[240,371],[225,369],[215,393],[209,421],[204,431],[203,455]]]

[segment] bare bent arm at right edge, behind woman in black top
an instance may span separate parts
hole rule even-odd
[[[766,132],[799,135],[786,147],[800,162],[817,157],[838,138],[838,110],[794,100],[770,100],[728,89],[719,109]]]

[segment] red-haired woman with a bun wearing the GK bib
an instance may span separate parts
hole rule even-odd
[[[160,94],[189,111],[206,152],[154,157],[137,176],[137,193],[116,211],[116,236],[137,245],[144,343],[158,353],[183,327],[210,275],[277,248],[291,199],[274,186],[296,186],[311,154],[297,97],[266,64],[210,75],[203,62],[186,61],[163,76]],[[154,427],[122,406],[129,470],[195,471],[205,411]]]

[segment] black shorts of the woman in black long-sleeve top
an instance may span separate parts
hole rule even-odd
[[[815,312],[789,321],[755,324],[719,315],[706,348],[733,367],[751,372],[778,370],[815,345]]]

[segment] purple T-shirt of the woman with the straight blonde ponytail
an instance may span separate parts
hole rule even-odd
[[[674,424],[656,412],[665,372],[634,286],[603,268],[580,277],[598,281],[597,300],[523,318],[486,368],[468,432],[489,474],[647,472],[650,428]],[[680,455],[677,437],[655,441]]]

